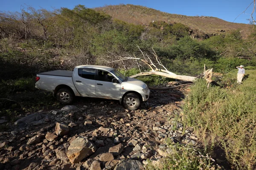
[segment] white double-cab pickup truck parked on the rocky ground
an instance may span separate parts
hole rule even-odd
[[[119,71],[99,65],[80,65],[74,71],[48,71],[37,74],[35,88],[50,91],[63,104],[75,96],[119,100],[125,108],[135,110],[149,97],[148,86],[128,78]]]

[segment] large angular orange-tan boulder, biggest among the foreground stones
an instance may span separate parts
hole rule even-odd
[[[70,162],[79,163],[82,159],[96,151],[96,146],[87,137],[79,136],[68,147],[67,157]]]

